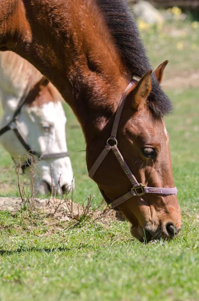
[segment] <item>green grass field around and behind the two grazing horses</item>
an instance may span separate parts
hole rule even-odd
[[[153,66],[170,60],[166,79],[199,70],[198,37],[199,28],[189,22],[167,24],[161,33],[143,32]],[[31,226],[24,211],[15,217],[1,212],[1,301],[199,299],[199,84],[172,86],[167,93],[174,105],[165,120],[182,210],[179,237],[144,245],[132,239],[128,222],[85,219],[76,226],[73,222],[50,226],[38,216]],[[87,175],[85,152],[80,152],[85,150],[81,128],[70,108],[64,107],[75,201],[82,203],[91,193],[94,205],[99,204],[101,196]],[[19,196],[11,160],[2,147],[0,154],[0,195]]]

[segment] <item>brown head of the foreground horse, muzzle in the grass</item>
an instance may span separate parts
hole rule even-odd
[[[166,64],[167,61],[162,63],[152,75],[159,82]],[[151,73],[150,70],[139,81],[134,81],[125,95],[118,120],[117,140],[112,140],[113,143],[116,141],[121,155],[117,152],[115,156],[108,154],[93,173],[93,179],[105,199],[123,212],[132,224],[131,234],[140,241],[174,238],[181,228],[180,208],[172,178],[169,135],[163,117],[154,114],[147,100],[152,89]],[[133,179],[128,181],[126,176],[131,173]],[[136,183],[131,183],[134,179]],[[136,188],[133,184],[137,183],[140,184]],[[118,199],[118,196],[121,197]]]

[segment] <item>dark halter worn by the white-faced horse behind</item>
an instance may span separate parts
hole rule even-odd
[[[48,159],[60,159],[60,158],[65,158],[65,157],[69,157],[68,152],[63,152],[63,153],[55,153],[55,154],[40,154],[38,153],[36,150],[34,150],[23,138],[23,136],[20,134],[19,130],[18,130],[18,119],[19,119],[19,115],[21,113],[22,107],[25,104],[26,100],[28,97],[31,96],[32,92],[34,91],[34,89],[36,88],[37,85],[42,84],[43,86],[47,86],[47,84],[49,83],[49,81],[46,78],[42,78],[39,82],[37,82],[34,87],[27,92],[27,89],[25,90],[24,94],[22,95],[20,102],[14,112],[13,118],[11,119],[11,121],[9,122],[9,124],[7,124],[6,126],[4,126],[1,130],[0,130],[0,136],[3,135],[5,132],[9,131],[9,130],[13,130],[14,133],[16,134],[17,138],[20,140],[20,142],[22,143],[22,145],[26,148],[27,152],[29,153],[30,156],[37,156],[39,158],[39,160],[48,160]],[[22,165],[22,171],[23,173],[25,172],[26,168],[31,166],[31,159],[27,159],[26,162]]]

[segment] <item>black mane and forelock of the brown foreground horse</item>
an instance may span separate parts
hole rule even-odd
[[[126,0],[96,1],[103,12],[127,69],[132,76],[141,77],[152,68]],[[172,111],[171,101],[162,91],[154,75],[148,101],[150,109],[157,117]]]

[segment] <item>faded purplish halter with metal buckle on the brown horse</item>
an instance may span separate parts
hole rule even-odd
[[[129,91],[129,89],[131,89],[133,87],[135,82],[136,82],[135,80],[132,80],[130,82],[130,84],[127,86],[126,90],[124,91],[124,93],[120,99],[120,102],[118,104],[118,107],[117,107],[110,138],[108,138],[107,143],[106,143],[104,149],[102,150],[102,153],[99,155],[99,157],[97,158],[97,160],[95,161],[95,163],[93,164],[92,168],[89,171],[89,177],[91,179],[93,179],[93,176],[95,175],[96,171],[98,170],[98,168],[100,167],[100,165],[102,164],[104,159],[106,158],[107,154],[110,152],[110,150],[113,151],[113,154],[117,158],[117,161],[119,162],[122,170],[124,171],[128,180],[132,184],[132,188],[129,192],[127,192],[126,194],[124,194],[123,196],[119,197],[118,199],[116,199],[112,202],[109,198],[107,198],[104,191],[100,189],[102,196],[104,197],[107,204],[111,206],[112,209],[117,207],[118,205],[124,203],[125,201],[127,201],[128,199],[130,199],[132,197],[139,197],[146,193],[160,194],[162,196],[169,196],[169,195],[177,194],[176,187],[174,187],[174,188],[146,187],[142,183],[138,183],[135,176],[132,174],[131,170],[129,169],[128,165],[126,164],[124,158],[122,157],[122,155],[117,147],[118,143],[117,143],[116,135],[117,135],[117,130],[118,130],[118,125],[119,125],[122,109],[124,107],[124,102],[125,102],[126,96],[128,95],[128,91]],[[110,142],[112,145],[110,144]]]

